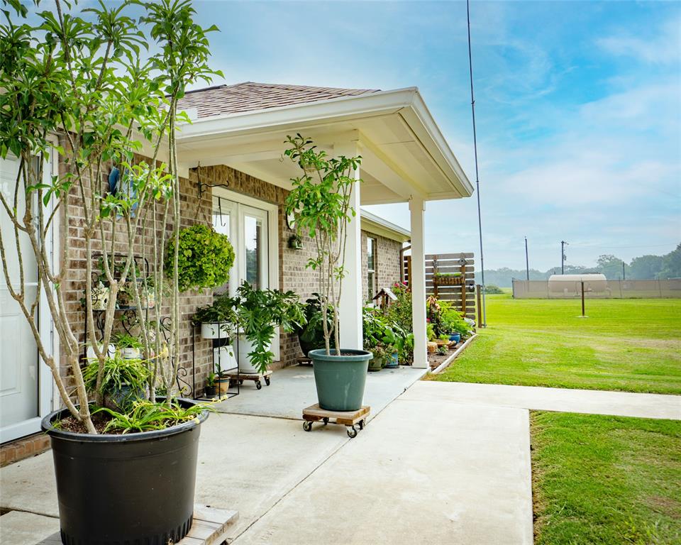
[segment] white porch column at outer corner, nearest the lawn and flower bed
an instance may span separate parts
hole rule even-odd
[[[411,314],[414,328],[414,367],[428,368],[426,347],[426,249],[423,198],[412,196],[409,200],[411,211]]]

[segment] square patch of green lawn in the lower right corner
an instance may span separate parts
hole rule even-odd
[[[534,412],[536,545],[681,544],[681,422]]]

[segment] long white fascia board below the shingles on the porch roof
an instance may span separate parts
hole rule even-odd
[[[182,125],[177,141],[210,137],[218,134],[238,134],[272,130],[279,126],[314,123],[315,121],[332,121],[353,119],[389,114],[399,111],[411,104],[416,87],[379,91],[362,94],[357,97],[339,97],[336,99],[291,104],[278,108],[247,111],[243,114],[226,114],[206,119],[199,119],[192,124]]]

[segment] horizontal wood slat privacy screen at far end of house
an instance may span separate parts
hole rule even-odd
[[[435,295],[437,290],[438,299],[445,299],[455,304],[459,312],[463,312],[465,304],[465,314],[467,317],[476,319],[475,316],[475,260],[473,253],[439,253],[426,255],[426,295]],[[462,263],[465,260],[465,263]],[[404,282],[409,284],[411,274],[411,255],[404,256]],[[453,274],[463,272],[465,284],[458,286],[443,286],[433,282],[433,272],[437,270],[440,274]],[[462,292],[465,290],[465,296]]]

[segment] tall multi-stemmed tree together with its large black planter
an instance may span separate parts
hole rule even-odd
[[[214,28],[194,23],[194,9],[184,0],[143,1],[132,9],[129,2],[100,3],[89,5],[85,16],[74,4],[55,0],[55,9],[29,18],[23,4],[4,3],[0,156],[18,167],[10,194],[0,192],[13,225],[0,232],[2,270],[65,407],[42,423],[52,442],[62,542],[177,542],[192,525],[199,424],[207,411],[177,397],[177,258],[165,277],[163,253],[172,246],[177,256],[179,247],[175,131],[187,116],[177,113],[177,101],[187,85],[216,73],[206,64],[206,33]],[[143,57],[149,49],[154,53]],[[135,155],[142,150],[146,158]],[[59,160],[56,175],[48,170],[50,158]],[[167,165],[160,158],[168,158]],[[55,221],[62,229],[52,229]],[[47,251],[52,237],[58,242],[54,260]],[[150,263],[142,278],[135,252]],[[9,260],[22,263],[28,255],[36,263],[37,290],[27,289],[26,275],[9,272]],[[93,309],[98,255],[104,265],[99,281],[109,292],[106,304]],[[84,270],[72,263],[83,263]],[[160,290],[164,285],[169,294]],[[70,304],[70,292],[83,289],[87,319]],[[148,373],[143,399],[115,411],[102,407],[117,365],[109,345],[120,322],[121,290]],[[145,309],[151,292],[154,308]],[[41,297],[63,356],[40,337],[44,313],[35,311]],[[101,335],[92,326],[94,312]],[[96,366],[89,384],[81,366],[83,334]]]

